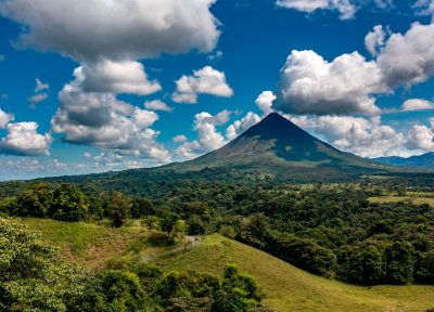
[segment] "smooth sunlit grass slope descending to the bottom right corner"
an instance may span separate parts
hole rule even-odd
[[[263,251],[218,235],[182,255],[159,259],[166,269],[197,270],[221,274],[226,263],[256,277],[266,303],[276,311],[425,311],[434,308],[434,286],[359,287],[329,281]]]

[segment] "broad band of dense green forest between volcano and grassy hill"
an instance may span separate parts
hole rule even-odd
[[[328,278],[434,284],[433,207],[368,200],[390,192],[430,191],[426,186],[182,180],[150,183],[140,196],[130,196],[95,191],[88,183],[7,185],[0,206],[4,214],[69,222],[106,219],[113,226],[135,218],[166,232],[167,244],[177,235],[218,232]]]

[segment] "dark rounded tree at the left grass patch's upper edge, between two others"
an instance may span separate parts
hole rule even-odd
[[[49,214],[56,220],[80,221],[89,213],[86,195],[73,184],[62,184],[53,193]]]

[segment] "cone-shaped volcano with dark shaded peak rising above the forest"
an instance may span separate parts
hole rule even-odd
[[[341,152],[272,113],[224,147],[163,168],[177,172],[225,168],[297,180],[341,180],[388,167]]]

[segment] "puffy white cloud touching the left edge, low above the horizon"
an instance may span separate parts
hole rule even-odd
[[[16,122],[7,126],[8,134],[0,141],[0,152],[17,156],[50,155],[51,135],[39,134],[38,123]]]

